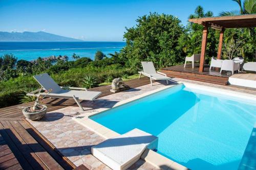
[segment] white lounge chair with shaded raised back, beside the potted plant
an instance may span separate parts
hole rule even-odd
[[[45,92],[40,92],[41,90],[51,90],[47,96],[49,98],[62,98],[62,99],[74,99],[77,105],[82,109],[82,106],[78,102],[78,100],[88,100],[93,101],[96,99],[101,92],[99,91],[87,91],[86,88],[79,87],[60,87],[55,81],[47,74],[40,74],[33,76],[34,79],[41,85],[40,89],[32,91],[27,95],[36,95],[35,92],[39,92],[39,95],[45,95]],[[62,88],[69,88],[72,90],[65,90]],[[75,89],[75,90],[73,90]],[[84,91],[81,91],[84,90]]]

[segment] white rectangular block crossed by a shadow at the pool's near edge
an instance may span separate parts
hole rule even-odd
[[[133,129],[95,145],[92,154],[110,168],[123,170],[137,162],[147,147],[156,149],[157,143],[158,137]]]

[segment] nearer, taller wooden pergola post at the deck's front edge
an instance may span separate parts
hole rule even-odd
[[[206,44],[207,44],[207,35],[208,35],[208,23],[203,22],[204,26],[203,29],[203,37],[202,37],[202,47],[201,47],[201,57],[200,57],[200,65],[199,65],[199,72],[204,71],[204,58],[206,52]]]

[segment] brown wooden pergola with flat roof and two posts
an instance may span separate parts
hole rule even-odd
[[[256,27],[256,14],[238,15],[238,16],[205,17],[205,18],[188,19],[188,21],[198,23],[204,26],[202,47],[201,47],[201,58],[200,58],[200,65],[199,65],[199,71],[203,72],[208,28],[220,30],[220,41],[219,41],[217,58],[221,59],[222,42],[223,42],[223,35],[224,35],[225,29]]]

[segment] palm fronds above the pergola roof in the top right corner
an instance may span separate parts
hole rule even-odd
[[[256,13],[256,0],[232,0],[237,2],[239,5],[239,10],[233,11],[223,11],[220,16],[234,16],[234,15],[244,15],[244,14],[255,14]]]

